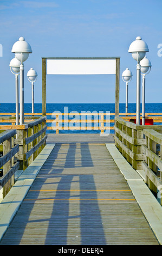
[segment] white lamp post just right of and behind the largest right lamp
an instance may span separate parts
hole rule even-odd
[[[140,65],[142,74],[142,125],[145,125],[145,76],[150,73],[151,62],[145,56],[145,58],[140,61]]]

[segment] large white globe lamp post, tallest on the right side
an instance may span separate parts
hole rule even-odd
[[[140,36],[137,36],[135,41],[129,46],[128,52],[132,53],[133,59],[137,60],[137,100],[136,100],[136,123],[140,124],[140,60],[145,57],[146,52],[149,52],[146,42]]]

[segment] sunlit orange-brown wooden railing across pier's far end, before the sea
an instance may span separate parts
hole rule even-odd
[[[74,115],[74,117],[72,117]],[[88,117],[92,115],[94,118],[92,120]],[[124,120],[130,120],[135,118],[135,113],[120,113],[119,116]],[[35,120],[42,116],[42,113],[24,113],[25,123]],[[78,118],[77,118],[78,116]],[[87,116],[87,117],[86,117]],[[154,124],[162,123],[162,113],[146,113],[146,119],[153,119]],[[68,131],[68,130],[100,130],[103,133],[106,130],[111,130],[114,132],[114,118],[115,113],[47,113],[47,132],[59,133],[59,131]],[[85,120],[85,121],[84,121]],[[5,125],[4,125],[5,123]],[[17,129],[16,115],[15,113],[0,113],[0,129]],[[74,125],[75,123],[75,125]],[[92,126],[90,126],[92,123]],[[97,125],[98,124],[98,125]]]

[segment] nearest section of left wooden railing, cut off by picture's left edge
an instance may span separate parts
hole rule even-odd
[[[0,133],[0,144],[2,156],[0,157],[0,169],[1,169],[1,196],[3,199],[9,192],[11,186],[14,185],[14,174],[20,167],[19,162],[15,162],[14,156],[18,153],[18,144],[15,145],[14,137],[16,130],[1,131]]]

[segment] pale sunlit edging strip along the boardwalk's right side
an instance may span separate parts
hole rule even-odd
[[[121,155],[115,144],[105,144],[109,153],[113,157],[114,162],[124,175],[132,193],[140,206],[141,211],[150,224],[155,236],[157,237],[160,245],[162,245],[162,206],[158,203],[157,199],[153,196],[144,180],[134,170],[126,159]]]

